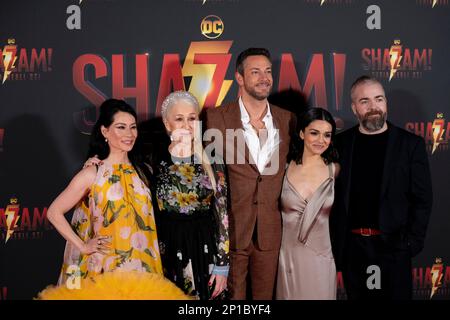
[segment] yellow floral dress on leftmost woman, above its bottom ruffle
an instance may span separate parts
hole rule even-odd
[[[108,254],[83,255],[67,242],[58,284],[123,270],[162,273],[150,190],[130,164],[103,164],[87,196],[76,206],[72,228],[87,241],[108,236]]]

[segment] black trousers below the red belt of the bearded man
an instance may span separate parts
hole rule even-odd
[[[411,255],[408,250],[392,248],[380,236],[349,233],[344,259],[342,276],[349,300],[412,299]],[[374,271],[377,267],[379,273]],[[373,281],[375,274],[380,275],[379,289],[370,288],[376,283]]]

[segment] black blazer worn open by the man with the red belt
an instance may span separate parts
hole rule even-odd
[[[423,138],[388,122],[388,142],[380,194],[381,237],[393,249],[409,250],[411,256],[423,248],[433,194],[428,156]],[[349,232],[349,196],[355,126],[336,136],[341,171],[336,180],[330,233],[338,268]]]

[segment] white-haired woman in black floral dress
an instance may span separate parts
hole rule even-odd
[[[224,165],[212,164],[203,150],[196,132],[199,112],[197,99],[186,91],[162,103],[170,143],[156,155],[156,223],[165,276],[205,300],[223,297],[229,238]]]

